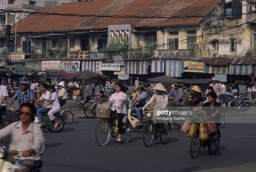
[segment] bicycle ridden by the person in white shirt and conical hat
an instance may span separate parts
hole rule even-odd
[[[148,121],[144,125],[143,128],[143,143],[146,147],[149,147],[153,140],[156,140],[157,138],[160,138],[160,141],[162,144],[167,144],[170,139],[171,134],[171,123],[164,121],[164,129],[159,130],[156,128],[156,125],[153,121],[154,118],[154,110],[158,109],[159,107],[155,109],[150,109],[148,107],[145,107],[148,110],[143,110],[143,118],[147,119]]]

